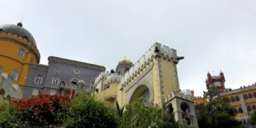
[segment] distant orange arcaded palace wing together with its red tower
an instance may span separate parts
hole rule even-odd
[[[220,72],[218,76],[212,76],[207,73],[207,90],[211,90],[212,87],[218,89],[219,96],[225,96],[228,98],[228,102],[234,108],[236,108],[236,119],[247,121],[249,119],[249,113],[256,110],[256,84],[241,86],[239,89],[226,89],[224,86],[224,73]],[[207,103],[207,97],[193,97],[195,104]]]

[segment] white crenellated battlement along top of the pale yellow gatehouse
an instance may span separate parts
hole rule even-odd
[[[155,49],[159,50],[157,53],[155,52]],[[165,58],[172,59],[173,61],[177,61],[177,53],[176,49],[170,49],[166,45],[162,45],[159,43],[153,44],[150,49],[146,51],[144,55],[142,55],[138,61],[134,63],[134,65],[125,73],[125,75],[122,77],[121,84],[128,83],[129,79],[136,76],[137,73],[143,70],[146,65],[152,61],[153,57],[155,55],[162,55]]]

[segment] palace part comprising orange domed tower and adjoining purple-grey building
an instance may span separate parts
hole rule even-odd
[[[36,41],[21,23],[0,26],[0,94],[5,98],[27,98],[39,93],[75,95],[76,84],[84,87],[80,90],[88,90],[105,71],[102,66],[55,56],[48,60],[48,66],[39,64]]]

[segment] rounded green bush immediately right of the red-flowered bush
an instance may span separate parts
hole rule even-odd
[[[94,96],[75,96],[67,112],[67,127],[117,127],[114,109],[96,100]]]

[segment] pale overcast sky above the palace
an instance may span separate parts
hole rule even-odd
[[[42,64],[51,55],[115,69],[158,42],[177,49],[181,90],[206,89],[207,72],[226,88],[256,82],[254,0],[0,0],[0,24],[32,33]]]

